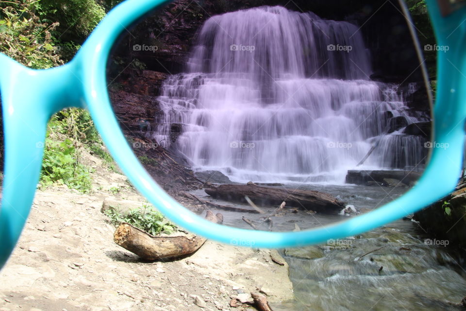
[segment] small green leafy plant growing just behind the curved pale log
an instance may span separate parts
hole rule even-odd
[[[170,223],[159,211],[147,205],[135,208],[126,215],[112,207],[105,211],[105,215],[115,226],[128,223],[154,236],[159,233],[170,234],[176,229],[176,225]]]

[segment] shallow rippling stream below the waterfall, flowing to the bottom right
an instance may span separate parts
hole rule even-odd
[[[331,193],[361,211],[380,207],[406,191],[354,185],[308,185],[307,189]],[[193,193],[206,198],[203,190]],[[220,200],[215,202],[232,205]],[[264,208],[266,212],[274,209]],[[259,220],[262,217],[259,214],[216,212],[224,215],[225,225],[250,229],[241,219],[245,216],[260,229],[268,228]],[[310,215],[300,211],[273,217],[273,230],[290,231],[295,224],[307,229],[342,221],[346,217]],[[466,294],[464,262],[460,262],[447,247],[432,245],[435,243],[442,244],[429,237],[416,223],[399,220],[348,239],[282,250],[290,267],[295,300],[274,304],[273,308],[275,311],[462,310],[448,302],[459,303]],[[376,249],[379,250],[360,258]],[[383,269],[379,271],[381,267]]]

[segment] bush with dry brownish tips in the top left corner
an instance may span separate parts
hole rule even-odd
[[[51,35],[59,23],[42,22],[34,13],[38,3],[0,1],[0,52],[33,69],[47,69],[63,64]]]

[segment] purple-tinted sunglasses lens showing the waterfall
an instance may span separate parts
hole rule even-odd
[[[434,144],[397,4],[292,3],[173,3],[109,60],[134,153],[224,225],[291,231],[380,207],[415,184]]]

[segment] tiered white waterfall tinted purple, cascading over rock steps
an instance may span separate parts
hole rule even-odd
[[[409,114],[398,86],[369,80],[369,52],[349,22],[267,6],[215,16],[187,68],[162,86],[153,135],[196,170],[339,183],[374,144],[365,168],[422,159],[420,138],[387,132],[394,117],[428,119]]]

